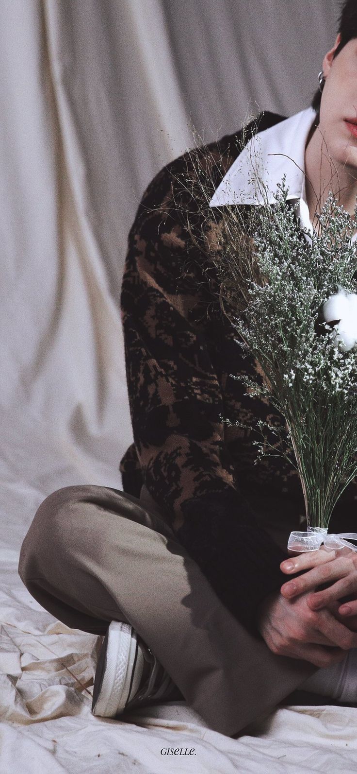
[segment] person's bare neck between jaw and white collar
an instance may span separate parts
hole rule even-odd
[[[318,127],[311,128],[305,149],[305,190],[311,223],[318,228],[318,215],[328,194],[338,200],[350,215],[354,214],[357,197],[357,172],[347,165],[336,166]]]

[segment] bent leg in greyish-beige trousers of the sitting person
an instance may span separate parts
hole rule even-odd
[[[215,731],[235,735],[314,671],[274,656],[217,598],[143,492],[60,489],[22,543],[30,594],[72,628],[104,634],[129,622],[187,702]]]

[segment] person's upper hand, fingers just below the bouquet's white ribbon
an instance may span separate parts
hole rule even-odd
[[[308,594],[307,604],[312,611],[330,608],[337,612],[339,618],[349,618],[348,626],[357,624],[357,553],[348,548],[328,551],[320,548],[317,551],[306,551],[284,560],[280,569],[288,575],[305,570],[303,575],[288,580],[280,592],[286,599],[294,599],[299,594]],[[327,588],[316,589],[328,584]],[[352,601],[338,603],[344,597],[352,597]],[[355,599],[353,599],[355,596]]]

